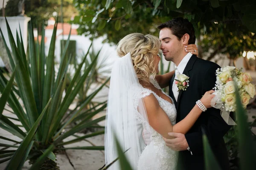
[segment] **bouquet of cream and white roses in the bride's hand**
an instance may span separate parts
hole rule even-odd
[[[221,113],[228,113],[228,116],[230,112],[236,111],[234,84],[236,82],[241,103],[246,108],[249,100],[255,95],[255,86],[251,83],[250,74],[243,73],[241,69],[236,67],[225,66],[216,70],[216,76],[217,80],[214,88],[216,96],[212,99],[212,106],[221,109]]]

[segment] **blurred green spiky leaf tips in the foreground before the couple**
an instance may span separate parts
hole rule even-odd
[[[237,133],[236,138],[238,139],[239,156],[239,170],[256,170],[256,143],[251,134],[249,124],[247,123],[246,111],[242,107],[238,88],[236,87],[236,118],[237,118]],[[206,134],[203,131],[203,145],[204,145],[204,160],[206,170],[221,170],[214,153],[210,147],[209,141]],[[236,132],[236,131],[235,131]],[[125,158],[122,148],[120,147],[119,141],[116,139],[116,149],[119,154],[119,161],[122,170],[132,170],[128,160]],[[117,160],[116,159],[116,160]],[[115,160],[115,161],[116,161]],[[113,161],[113,162],[115,162]],[[112,162],[112,164],[113,164]],[[106,170],[108,167],[102,167],[100,170]]]

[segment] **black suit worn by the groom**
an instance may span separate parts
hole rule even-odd
[[[183,74],[189,77],[189,87],[186,91],[180,91],[177,102],[172,93],[172,84],[175,75],[169,85],[169,96],[175,101],[177,109],[177,120],[180,122],[195,106],[195,102],[204,95],[206,91],[215,87],[215,71],[220,68],[214,62],[200,59],[195,55],[189,59]],[[185,134],[190,150],[179,152],[178,170],[204,170],[204,151],[202,143],[202,129],[204,129],[212,151],[223,170],[229,170],[229,160],[223,136],[230,129],[230,126],[222,119],[220,110],[209,108],[203,112],[195,125]]]

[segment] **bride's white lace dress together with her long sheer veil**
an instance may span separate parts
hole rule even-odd
[[[151,83],[161,90],[157,81]],[[164,92],[162,91],[164,94]],[[176,122],[175,105],[140,85],[131,54],[116,60],[111,71],[105,126],[105,163],[110,170],[120,170],[120,161],[112,164],[119,153],[116,141],[134,170],[175,170],[177,152],[165,145],[163,137],[148,123],[144,98],[153,94],[168,115],[172,125]],[[166,95],[167,96],[167,95]],[[150,134],[143,140],[143,130]]]

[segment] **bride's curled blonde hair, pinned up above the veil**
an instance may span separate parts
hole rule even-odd
[[[117,54],[120,57],[130,52],[137,77],[140,83],[144,84],[149,84],[149,77],[156,75],[154,56],[158,54],[159,49],[158,37],[150,34],[128,34],[117,44]]]

